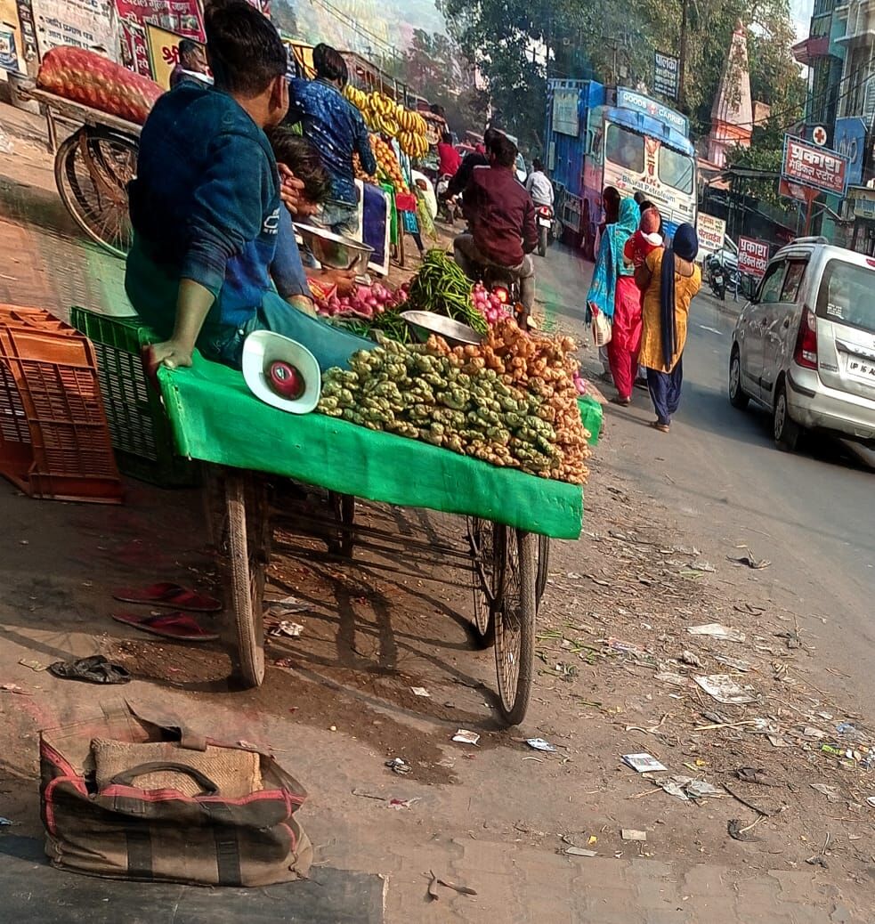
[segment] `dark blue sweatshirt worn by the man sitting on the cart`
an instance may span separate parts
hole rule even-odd
[[[140,315],[168,335],[179,280],[191,279],[216,299],[205,328],[247,322],[273,291],[281,203],[273,151],[245,110],[188,82],[164,93],[143,126],[128,193],[134,246],[125,281]],[[297,254],[284,256],[280,295],[301,285],[306,293],[303,274],[296,280],[287,264]]]

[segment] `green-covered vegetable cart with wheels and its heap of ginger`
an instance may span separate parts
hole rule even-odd
[[[431,323],[428,313],[407,321],[418,329]],[[159,371],[178,454],[210,464],[211,531],[234,611],[237,667],[249,686],[264,673],[268,485],[281,477],[333,493],[346,552],[358,529],[356,497],[467,517],[473,622],[483,644],[495,646],[504,721],[522,721],[549,537],[580,533],[587,444],[601,430],[601,407],[577,400],[568,338],[527,334],[503,318],[482,337],[453,342],[383,338],[348,369],[324,373],[315,413],[259,401],[243,374],[200,356],[190,369]]]

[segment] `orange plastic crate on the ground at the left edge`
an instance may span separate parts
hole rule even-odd
[[[0,317],[0,472],[31,497],[121,503],[94,352],[75,331]]]

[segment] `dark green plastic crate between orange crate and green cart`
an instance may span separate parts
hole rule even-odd
[[[118,468],[162,488],[198,484],[198,465],[176,456],[161,396],[146,382],[140,353],[155,341],[152,329],[137,317],[113,318],[84,308],[70,309],[70,322],[91,340],[97,356]]]

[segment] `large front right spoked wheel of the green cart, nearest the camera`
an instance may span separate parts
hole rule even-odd
[[[537,538],[522,529],[500,528],[496,558],[504,563],[502,599],[495,610],[495,667],[499,709],[508,725],[526,716],[535,646]]]

